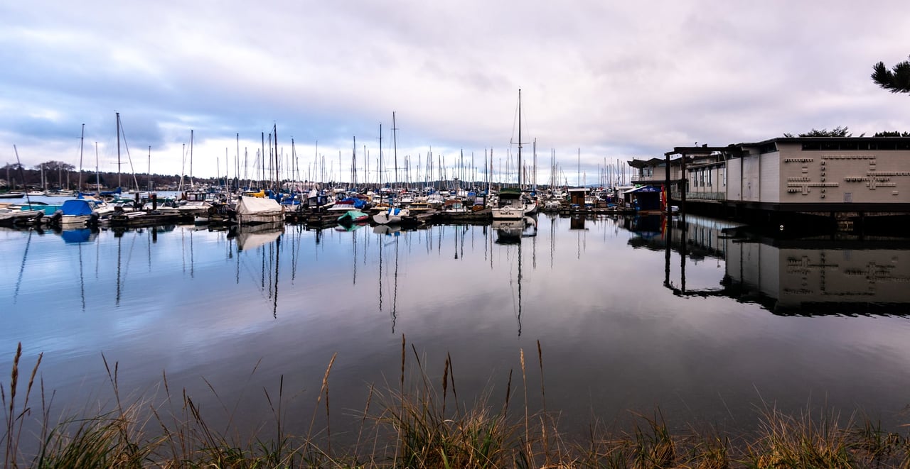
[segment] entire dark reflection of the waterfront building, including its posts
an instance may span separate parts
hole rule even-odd
[[[841,234],[774,238],[692,215],[626,223],[635,234],[630,244],[664,250],[663,285],[678,296],[726,296],[780,315],[910,314],[905,240]],[[717,286],[688,289],[687,262],[709,258],[723,263]]]

